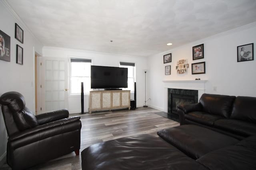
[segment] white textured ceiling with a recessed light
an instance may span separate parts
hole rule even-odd
[[[44,46],[136,56],[168,51],[256,21],[256,0],[6,2]],[[169,42],[173,45],[167,46]]]

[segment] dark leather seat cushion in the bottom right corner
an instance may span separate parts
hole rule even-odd
[[[256,136],[248,137],[234,146],[214,150],[198,160],[209,169],[255,170]]]

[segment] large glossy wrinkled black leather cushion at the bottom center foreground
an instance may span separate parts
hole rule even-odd
[[[83,170],[206,170],[166,141],[148,134],[94,144],[81,155]]]

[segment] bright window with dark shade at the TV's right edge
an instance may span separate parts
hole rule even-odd
[[[131,92],[134,92],[135,63],[120,62],[120,67],[128,68],[128,88],[123,89],[131,90]]]

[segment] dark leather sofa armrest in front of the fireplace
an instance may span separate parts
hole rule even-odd
[[[202,105],[200,103],[197,104],[181,104],[178,107],[178,115],[180,117],[180,125],[185,124],[185,114],[191,111],[201,111]]]

